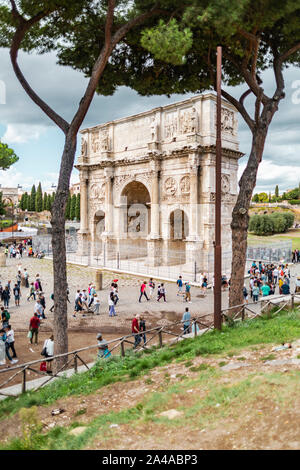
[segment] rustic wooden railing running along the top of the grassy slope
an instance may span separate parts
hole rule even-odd
[[[289,298],[287,299],[287,297]],[[262,304],[260,311],[255,310],[255,306],[257,308],[258,304]],[[229,307],[229,308],[222,310],[222,317],[223,317],[223,321],[225,322],[243,321],[245,319],[253,320],[257,317],[260,317],[266,314],[271,309],[272,310],[275,309],[273,313],[277,314],[288,305],[290,305],[292,308],[300,309],[300,294],[292,294],[290,296],[282,295],[282,296],[274,297],[271,299],[268,298],[267,300],[262,298],[256,304],[250,303],[250,304],[241,304],[241,305],[237,305],[234,307]],[[276,307],[278,308],[276,309]],[[207,317],[210,317],[210,319]],[[150,343],[151,343],[151,346],[154,346],[156,345],[155,343],[156,340],[157,340],[157,346],[162,348],[165,344],[170,345],[174,342],[178,342],[180,339],[187,337],[186,336],[187,332],[185,330],[178,333],[178,328],[181,328],[183,323],[184,322],[182,320],[178,320],[169,325],[156,326],[149,330],[140,332],[139,335],[141,336],[141,338],[143,338],[143,335],[146,335],[146,342],[142,346],[139,345],[136,349],[134,349],[134,351],[143,351],[144,349],[148,348]],[[194,337],[196,337],[198,334],[203,335],[207,333],[208,331],[212,330],[213,329],[212,314],[209,313],[205,315],[200,315],[198,317],[193,317],[190,321],[189,329],[190,331],[194,333],[193,334]],[[165,338],[163,337],[163,335],[165,335]],[[172,337],[173,341],[172,339],[169,341],[166,341],[166,335],[169,337]],[[124,357],[126,355],[125,346],[126,345],[130,345],[131,347],[134,346],[135,336],[136,335],[134,333],[131,333],[129,335],[107,341],[109,352],[110,353],[114,351],[116,352],[116,350],[120,348],[119,354],[121,357]],[[190,335],[188,337],[190,337]],[[81,362],[86,367],[86,369],[89,369],[88,364],[82,359],[80,354],[84,351],[93,350],[93,349],[98,349],[98,344],[87,346],[85,348],[76,349],[74,351],[70,351],[64,354],[58,354],[48,359],[45,359],[45,358],[36,359],[35,361],[27,362],[24,364],[18,364],[13,367],[2,369],[0,370],[0,377],[1,377],[1,374],[12,373],[12,375],[7,380],[0,383],[0,390],[3,389],[6,385],[8,385],[17,376],[21,375],[22,376],[22,388],[21,389],[22,389],[22,393],[25,393],[27,389],[26,387],[27,372],[34,372],[37,375],[47,377],[48,379],[44,381],[42,384],[38,385],[37,388],[34,389],[34,391],[36,391],[40,389],[41,387],[44,387],[48,382],[53,380],[55,377],[62,377],[59,374],[64,372],[71,364],[73,365],[75,373],[78,373],[79,362]],[[38,367],[41,362],[57,360],[63,357],[66,357],[68,359],[67,362],[64,363],[62,367],[60,367],[50,376],[46,372],[41,372],[40,370],[35,368],[35,367]],[[5,393],[3,391],[0,391],[0,395],[11,396],[11,394]]]

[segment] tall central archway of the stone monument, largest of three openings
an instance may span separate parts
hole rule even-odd
[[[151,198],[143,183],[131,181],[123,188],[121,209],[121,257],[147,256],[147,237],[151,231]]]

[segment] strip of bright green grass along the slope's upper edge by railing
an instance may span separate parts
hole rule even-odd
[[[156,366],[164,366],[179,359],[190,361],[198,355],[226,354],[234,348],[257,344],[291,342],[300,336],[300,312],[282,311],[270,318],[245,320],[235,328],[223,327],[222,331],[212,331],[203,336],[189,339],[172,347],[149,350],[149,354],[126,352],[125,358],[112,357],[98,361],[85,373],[74,374],[70,378],[60,378],[37,392],[27,392],[18,399],[12,397],[0,402],[0,417],[16,413],[21,408],[41,406],[55,402],[61,397],[90,394],[100,387],[121,380],[129,380],[144,375]],[[201,366],[206,368],[206,365]]]

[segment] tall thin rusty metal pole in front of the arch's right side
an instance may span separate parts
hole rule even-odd
[[[221,248],[221,173],[222,173],[222,142],[221,142],[221,77],[222,47],[217,48],[217,139],[216,139],[216,200],[215,200],[215,253],[214,253],[214,328],[222,326],[222,248]]]

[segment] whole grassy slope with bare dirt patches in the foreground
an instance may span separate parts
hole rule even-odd
[[[298,309],[99,362],[2,401],[0,448],[299,448],[299,338]]]

